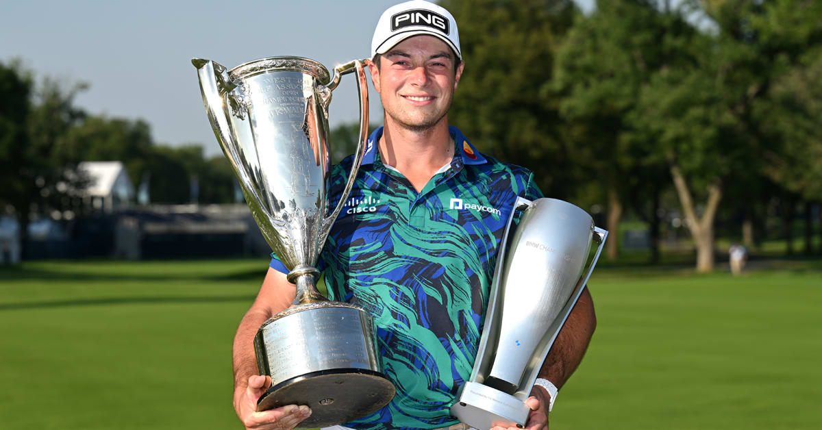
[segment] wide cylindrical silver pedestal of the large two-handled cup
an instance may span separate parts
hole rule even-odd
[[[349,303],[291,307],[260,327],[254,339],[261,375],[271,386],[257,410],[307,405],[301,428],[328,427],[372,414],[395,394],[381,373],[371,318]]]

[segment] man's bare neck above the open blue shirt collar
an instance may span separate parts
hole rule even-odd
[[[418,191],[454,158],[454,141],[446,118],[421,131],[401,127],[387,116],[385,123],[379,142],[382,162],[403,173]],[[418,182],[423,182],[422,186],[418,187]]]

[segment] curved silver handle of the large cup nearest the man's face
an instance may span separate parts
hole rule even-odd
[[[334,209],[334,211],[322,220],[321,237],[323,238],[326,237],[326,235],[330,231],[331,225],[334,224],[334,221],[337,219],[337,215],[339,215],[339,211],[343,209],[346,197],[348,197],[349,192],[351,192],[351,188],[354,185],[354,179],[357,178],[359,166],[363,163],[363,155],[365,153],[365,141],[368,137],[368,82],[366,81],[365,69],[363,68],[363,64],[365,64],[365,62],[366,60],[364,59],[353,60],[352,62],[347,62],[341,66],[335,67],[334,76],[331,77],[331,81],[326,86],[326,88],[330,92],[339,85],[339,80],[343,75],[349,74],[351,72],[357,73],[357,89],[359,90],[360,104],[360,132],[357,141],[357,150],[354,151],[354,160],[353,164],[351,164],[351,173],[349,173],[348,182],[345,183],[345,188],[341,195],[342,197],[339,199],[337,207]]]

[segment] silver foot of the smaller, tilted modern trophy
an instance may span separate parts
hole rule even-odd
[[[530,412],[524,401],[477,382],[465,382],[451,405],[451,415],[473,428],[524,428]]]

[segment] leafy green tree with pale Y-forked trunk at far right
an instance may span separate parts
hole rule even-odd
[[[701,7],[711,25],[680,44],[686,61],[662,67],[643,87],[631,123],[638,136],[658,142],[694,238],[697,270],[708,271],[723,195],[755,183],[765,153],[785,137],[767,132],[774,118],[762,107],[819,39],[820,11],[818,3],[792,0],[687,4]],[[785,31],[786,22],[804,30]]]

